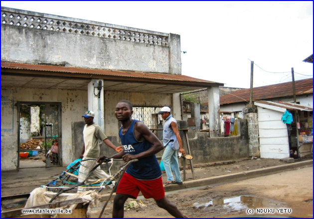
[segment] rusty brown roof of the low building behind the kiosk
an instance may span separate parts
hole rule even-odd
[[[313,77],[296,80],[296,95],[301,94],[313,94]],[[253,88],[253,100],[266,100],[277,97],[293,96],[293,84],[292,82],[285,82],[279,84],[273,84],[268,86],[254,87]],[[220,96],[220,105],[229,103],[250,101],[250,89],[241,89],[233,91],[229,94]]]

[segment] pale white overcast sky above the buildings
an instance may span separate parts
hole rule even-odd
[[[313,1],[1,1],[1,6],[179,34],[182,75],[249,88],[313,77]],[[184,52],[184,53],[183,53]]]

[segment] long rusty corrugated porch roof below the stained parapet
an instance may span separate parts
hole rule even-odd
[[[185,82],[191,85],[199,86],[223,86],[223,83],[214,82],[209,80],[203,80],[195,77],[189,77],[186,75],[177,74],[165,74],[165,73],[144,73],[144,72],[129,72],[129,71],[112,71],[112,70],[101,70],[101,69],[85,69],[85,68],[74,68],[64,66],[50,66],[50,65],[34,65],[34,64],[19,64],[19,63],[2,63],[1,69],[11,69],[20,71],[38,71],[47,73],[70,73],[72,76],[80,77],[80,75],[86,78],[86,74],[95,75],[97,78],[106,78],[112,76],[117,80],[121,78],[128,78],[129,80],[134,79],[135,81],[141,79],[141,81],[154,82],[154,81],[172,81],[180,85],[180,82]],[[45,74],[44,76],[49,76]],[[62,76],[62,74],[59,74]],[[68,74],[64,76],[69,76]],[[94,77],[95,78],[95,77]]]

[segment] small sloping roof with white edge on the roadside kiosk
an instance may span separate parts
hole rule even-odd
[[[260,106],[266,109],[272,109],[279,112],[285,112],[288,110],[300,110],[300,111],[313,111],[313,108],[308,106],[302,106],[297,103],[287,103],[287,102],[272,102],[272,101],[264,101],[258,100],[254,101],[254,105]]]

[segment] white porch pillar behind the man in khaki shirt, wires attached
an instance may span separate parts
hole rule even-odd
[[[102,79],[92,79],[88,83],[88,110],[91,110],[95,113],[94,123],[99,125],[101,129],[105,132],[105,123],[104,123],[104,87],[100,91],[100,98],[98,98],[98,88],[94,87],[94,83],[104,84]],[[96,95],[95,95],[96,94]]]

